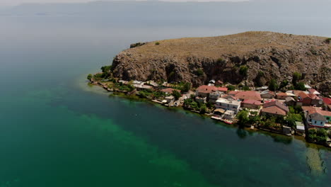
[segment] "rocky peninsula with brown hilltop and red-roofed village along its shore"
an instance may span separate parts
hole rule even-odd
[[[113,94],[331,147],[330,41],[246,32],[139,42],[87,78]]]

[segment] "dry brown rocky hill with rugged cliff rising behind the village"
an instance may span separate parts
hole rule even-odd
[[[125,80],[190,81],[194,86],[210,79],[262,86],[271,79],[291,81],[300,72],[303,81],[330,92],[331,44],[325,40],[272,32],[161,40],[120,52],[112,70]]]

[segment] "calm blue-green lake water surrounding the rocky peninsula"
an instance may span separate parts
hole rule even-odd
[[[323,24],[330,17],[240,25],[243,15],[209,19],[195,9],[173,10],[178,19],[164,12],[146,19],[155,10],[141,7],[130,9],[137,18],[21,11],[28,9],[0,14],[1,187],[330,186],[330,149],[110,97],[86,82],[133,42],[245,30],[331,36]],[[303,23],[320,27],[301,30]]]

